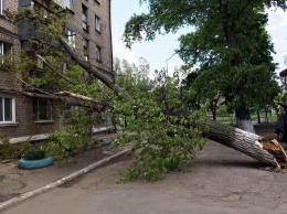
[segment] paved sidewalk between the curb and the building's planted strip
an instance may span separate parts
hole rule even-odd
[[[104,138],[115,137],[116,135],[113,133]],[[87,167],[91,170],[91,165],[92,168],[96,168],[105,164],[109,161],[110,157],[113,159],[114,157],[117,158],[121,156],[123,151],[125,152],[125,148],[114,148],[113,146],[102,147],[100,149],[85,151],[62,162],[54,161],[54,164],[51,167],[34,170],[19,169],[17,161],[8,163],[0,162],[0,211],[1,205],[9,200],[12,201],[12,199],[22,197],[24,193],[40,190],[53,182],[66,182],[61,181],[61,179],[74,179],[85,173]],[[43,192],[43,190],[41,191]]]

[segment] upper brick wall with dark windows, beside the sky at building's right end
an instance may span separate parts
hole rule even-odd
[[[100,2],[100,3],[98,3]],[[88,33],[83,30],[82,4],[87,8]],[[77,0],[73,1],[73,12],[67,28],[76,33],[76,50],[83,54],[83,40],[88,40],[88,55],[91,63],[106,71],[111,71],[111,38],[110,38],[110,19],[109,19],[109,0]],[[95,15],[100,19],[100,32],[95,30]],[[102,62],[96,60],[96,45],[102,51]]]

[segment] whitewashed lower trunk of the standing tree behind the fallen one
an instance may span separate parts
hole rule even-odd
[[[249,111],[246,108],[241,107],[235,110],[235,114],[236,114],[236,126],[240,129],[255,133],[255,129],[251,120]]]

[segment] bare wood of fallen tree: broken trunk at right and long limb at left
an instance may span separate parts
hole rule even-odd
[[[95,75],[99,79],[102,78],[103,74],[100,73],[100,71],[98,71],[96,67],[88,66],[85,61],[81,61],[79,56],[73,52],[71,46],[63,38],[60,39],[60,42],[65,47],[67,53],[77,63],[79,63],[81,66],[89,68],[88,71],[91,72],[91,74]],[[103,78],[103,83],[105,83],[116,93],[119,93],[121,90],[118,85],[113,83],[111,76],[105,76],[105,78]],[[211,120],[208,121],[208,125],[210,127],[210,131],[206,133],[206,137],[211,140],[236,149],[237,151],[243,152],[264,164],[273,165],[275,168],[280,168],[287,161],[286,152],[276,140],[268,141],[255,133],[251,133],[242,129]]]

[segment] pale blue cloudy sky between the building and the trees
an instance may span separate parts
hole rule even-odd
[[[189,32],[189,29],[182,29],[177,34],[158,35],[152,42],[142,41],[127,49],[121,41],[126,22],[134,14],[140,14],[147,10],[147,6],[139,6],[139,0],[111,0],[111,32],[114,57],[127,60],[130,63],[138,64],[140,57],[144,57],[150,64],[151,72],[155,69],[168,68],[169,73],[176,67],[183,65],[183,62],[174,54],[179,47],[178,38]],[[287,68],[284,64],[284,55],[287,55],[287,12],[280,9],[267,11],[269,15],[266,30],[272,36],[275,52],[274,62],[278,63],[277,73]]]

